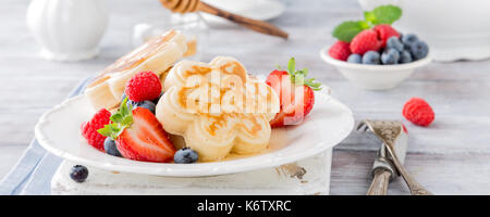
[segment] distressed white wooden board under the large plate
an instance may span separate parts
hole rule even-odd
[[[329,194],[332,149],[280,167],[196,177],[159,177],[87,167],[85,182],[69,174],[75,163],[64,161],[51,181],[52,194]]]

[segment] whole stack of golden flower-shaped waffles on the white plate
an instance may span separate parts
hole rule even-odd
[[[175,148],[189,146],[203,162],[220,161],[230,153],[254,154],[267,149],[271,135],[269,122],[279,112],[280,104],[272,88],[248,76],[245,67],[232,58],[218,56],[209,64],[176,63],[194,52],[195,40],[186,40],[182,33],[170,30],[106,67],[87,87],[85,95],[95,110],[114,110],[126,82],[138,72],[150,71],[160,77],[164,89],[156,116],[171,135]],[[220,79],[213,80],[211,75]],[[219,98],[203,98],[201,93],[208,95],[213,87],[218,87],[215,90]],[[237,97],[244,98],[238,101]],[[201,105],[205,101],[205,110],[193,106],[193,101],[201,101]],[[208,110],[211,102],[217,102],[219,110]]]

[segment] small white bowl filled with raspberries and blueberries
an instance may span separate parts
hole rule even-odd
[[[396,87],[403,80],[408,78],[416,68],[429,64],[432,59],[430,53],[421,60],[397,64],[397,65],[366,65],[348,63],[331,58],[328,53],[329,47],[321,49],[321,59],[334,65],[342,75],[363,89],[387,90]]]

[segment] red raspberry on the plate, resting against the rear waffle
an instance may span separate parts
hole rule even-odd
[[[127,81],[124,92],[134,102],[152,101],[160,97],[160,79],[152,72],[139,72]]]

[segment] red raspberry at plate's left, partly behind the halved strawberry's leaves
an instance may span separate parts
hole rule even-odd
[[[98,129],[110,123],[111,113],[106,108],[99,110],[89,122],[82,123],[82,136],[94,148],[103,151],[106,137],[97,132]]]

